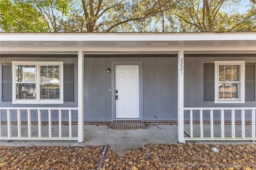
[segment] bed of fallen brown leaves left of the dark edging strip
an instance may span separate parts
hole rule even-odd
[[[0,146],[0,169],[94,169],[103,148],[104,146]]]

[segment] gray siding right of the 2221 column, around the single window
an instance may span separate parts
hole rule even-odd
[[[245,61],[246,63],[256,63],[256,55],[246,57],[225,57],[225,54],[216,57],[184,57],[184,107],[255,107],[256,101],[246,101],[244,104],[222,104],[213,101],[204,101],[204,63],[214,63],[214,61]],[[214,120],[220,120],[219,111],[214,111]],[[194,112],[194,120],[199,119],[199,112]],[[210,119],[209,111],[204,111],[205,120]],[[240,111],[235,113],[236,120],[241,119]],[[246,120],[251,119],[250,111],[246,111]],[[189,111],[185,111],[185,120],[189,120]],[[231,111],[225,111],[225,119],[231,120]]]

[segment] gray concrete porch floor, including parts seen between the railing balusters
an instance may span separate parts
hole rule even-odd
[[[185,125],[186,134],[190,133],[190,125]],[[217,129],[218,125],[214,125]],[[225,128],[228,130],[228,126]],[[38,125],[31,125],[32,136],[38,136]],[[246,136],[251,135],[251,126],[246,126]],[[12,125],[12,136],[17,136],[17,125]],[[52,136],[58,136],[58,125],[52,125]],[[77,126],[72,126],[72,136],[77,136]],[[2,136],[7,136],[7,125],[1,125]],[[62,136],[68,136],[69,127],[62,125]],[[198,125],[194,127],[194,136],[200,132]],[[204,126],[204,134],[208,136],[210,125]],[[240,134],[241,127],[236,126],[237,135]],[[185,136],[186,136],[185,134]],[[220,130],[215,130],[214,135],[219,135]],[[27,125],[22,125],[22,136],[28,135]],[[42,136],[48,135],[48,125],[42,126]],[[199,134],[200,135],[200,134]],[[226,135],[226,134],[225,134]],[[228,135],[228,133],[227,133]],[[118,154],[123,154],[124,150],[140,147],[151,143],[177,144],[178,126],[177,125],[150,125],[146,129],[136,130],[113,130],[106,125],[84,125],[84,142],[78,143],[77,140],[0,140],[3,146],[88,146],[88,145],[105,145],[108,144],[111,150],[117,150]],[[189,141],[186,141],[189,142]],[[252,143],[251,141],[217,141],[201,142],[211,144],[242,144]]]

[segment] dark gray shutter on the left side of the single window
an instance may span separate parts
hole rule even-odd
[[[204,63],[204,101],[214,101],[214,63]]]

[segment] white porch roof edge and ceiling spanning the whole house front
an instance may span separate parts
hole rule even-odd
[[[1,33],[1,53],[256,53],[246,33]]]

